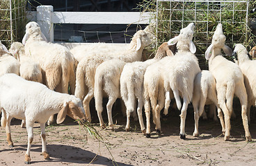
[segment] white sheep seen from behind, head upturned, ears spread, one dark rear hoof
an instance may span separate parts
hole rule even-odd
[[[193,80],[201,70],[198,65],[198,59],[194,53],[195,45],[192,42],[194,24],[191,23],[186,28],[182,28],[177,37],[170,39],[168,44],[177,44],[177,53],[173,57],[168,57],[163,63],[164,89],[166,92],[173,91],[177,108],[181,110],[180,118],[180,138],[185,139],[185,119],[186,109],[193,96]],[[183,106],[179,98],[179,93],[183,98]],[[168,95],[167,95],[168,97]],[[159,103],[163,103],[160,101]],[[161,129],[160,111],[155,110],[157,129]]]

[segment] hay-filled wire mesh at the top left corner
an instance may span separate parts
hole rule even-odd
[[[9,46],[12,42],[21,41],[26,25],[25,0],[0,1],[0,39]]]

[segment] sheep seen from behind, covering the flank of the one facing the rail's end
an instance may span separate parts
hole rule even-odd
[[[95,72],[95,108],[99,118],[100,127],[106,128],[102,118],[102,100],[103,93],[109,98],[106,104],[106,111],[109,118],[109,127],[114,129],[112,120],[112,107],[116,99],[121,98],[120,95],[120,75],[125,62],[120,59],[110,59],[100,64]]]

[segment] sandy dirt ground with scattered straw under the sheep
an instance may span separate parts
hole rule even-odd
[[[125,131],[126,119],[122,113],[113,113],[115,131],[100,129],[97,115],[93,114],[95,129],[106,138],[109,150],[76,122],[66,118],[63,124],[46,129],[50,160],[40,156],[40,127],[36,123],[31,165],[256,165],[256,122],[250,123],[253,142],[246,142],[241,113],[236,114],[237,118],[231,121],[231,140],[227,142],[223,140],[221,124],[213,120],[200,120],[200,136],[193,137],[191,107],[186,117],[186,140],[179,138],[179,111],[170,111],[161,119],[161,136],[155,133],[152,124],[151,138],[143,136],[138,121],[131,120],[131,131]],[[26,129],[19,127],[20,122],[13,120],[11,125],[13,148],[8,147],[5,129],[0,130],[0,165],[25,165],[27,134]],[[104,122],[107,122],[106,114]]]

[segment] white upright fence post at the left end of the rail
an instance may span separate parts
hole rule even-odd
[[[42,33],[47,38],[48,42],[54,42],[54,24],[51,22],[51,12],[54,12],[53,6],[38,6],[37,22],[42,30]]]

